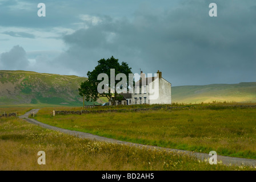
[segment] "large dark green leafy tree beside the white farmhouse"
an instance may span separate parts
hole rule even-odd
[[[107,97],[111,102],[111,105],[114,105],[115,101],[122,99],[122,96],[117,92],[110,92],[110,69],[115,69],[114,77],[116,77],[118,73],[125,74],[127,78],[126,87],[129,85],[129,73],[132,72],[127,63],[122,62],[120,64],[118,59],[115,59],[113,56],[109,59],[101,59],[98,61],[98,65],[94,68],[94,70],[87,73],[88,79],[85,82],[82,82],[79,88],[79,94],[83,96],[86,101],[96,101],[99,97]],[[101,73],[105,73],[109,78],[109,84],[105,85],[107,87],[108,93],[98,92],[98,85],[102,81],[98,80],[98,75]],[[119,81],[120,80],[114,80],[114,86],[116,86]],[[121,88],[122,86],[123,85],[121,85]]]

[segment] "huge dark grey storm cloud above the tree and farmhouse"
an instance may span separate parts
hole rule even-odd
[[[133,72],[159,69],[174,85],[255,81],[256,3],[246,2],[217,1],[213,18],[210,1],[182,1],[170,10],[141,7],[132,20],[102,18],[63,37],[70,49],[61,60],[87,73],[113,55]]]

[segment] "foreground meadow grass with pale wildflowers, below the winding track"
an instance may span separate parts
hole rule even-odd
[[[194,156],[81,139],[18,118],[0,119],[0,170],[255,170]],[[38,151],[46,164],[39,165]]]

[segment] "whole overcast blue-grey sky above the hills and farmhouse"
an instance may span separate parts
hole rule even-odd
[[[0,70],[86,77],[111,56],[173,86],[255,82],[256,1],[0,0]]]

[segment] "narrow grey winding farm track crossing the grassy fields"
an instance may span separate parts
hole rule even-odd
[[[130,145],[130,146],[146,147],[146,148],[149,148],[149,149],[156,148],[156,149],[159,149],[159,150],[183,152],[185,154],[194,155],[196,158],[201,159],[201,160],[204,160],[204,159],[208,160],[210,158],[209,154],[205,154],[205,153],[191,152],[191,151],[171,149],[171,148],[164,148],[164,147],[148,146],[148,145],[145,145],[145,144],[138,144],[138,143],[131,143],[131,142],[123,142],[121,140],[116,140],[116,139],[106,138],[106,137],[100,137],[98,135],[93,135],[93,134],[89,134],[89,133],[83,133],[81,131],[66,130],[66,129],[62,129],[62,128],[59,128],[59,127],[46,125],[45,123],[41,123],[41,122],[39,122],[39,121],[37,121],[35,119],[29,118],[29,115],[32,112],[37,113],[38,111],[39,111],[39,109],[32,109],[29,112],[27,112],[26,114],[19,116],[19,118],[25,119],[27,122],[33,123],[34,125],[38,125],[38,126],[46,128],[46,129],[50,129],[50,130],[60,131],[62,133],[70,134],[70,135],[73,135],[73,136],[79,137],[79,138],[86,138],[86,139],[97,140],[97,141],[101,141],[101,142],[127,144],[127,145]],[[233,157],[229,157],[229,156],[218,155],[217,156],[217,160],[218,160],[218,162],[222,161],[222,163],[226,164],[226,165],[234,164],[234,165],[241,166],[243,164],[243,165],[248,165],[248,166],[256,167],[256,160],[254,160],[254,159],[233,158]]]

